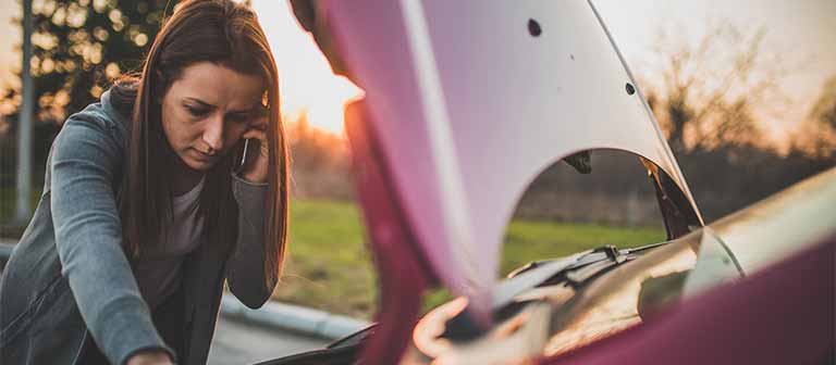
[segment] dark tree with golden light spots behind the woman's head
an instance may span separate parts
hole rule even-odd
[[[61,124],[95,102],[110,80],[138,71],[173,5],[165,0],[35,1],[30,63],[37,119]]]

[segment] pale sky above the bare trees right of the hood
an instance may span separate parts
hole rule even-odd
[[[653,77],[652,49],[662,28],[696,40],[706,24],[727,21],[743,32],[763,28],[763,52],[786,67],[778,85],[790,103],[777,115],[762,115],[773,139],[792,130],[808,115],[824,80],[836,76],[836,0],[593,0],[634,71]],[[625,4],[629,3],[629,7]],[[734,50],[729,50],[734,51]]]

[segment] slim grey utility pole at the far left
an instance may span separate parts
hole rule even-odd
[[[32,0],[23,0],[23,67],[21,78],[23,84],[23,100],[21,101],[20,119],[17,121],[17,210],[15,221],[26,223],[29,219],[32,207],[32,114],[33,89],[32,75],[29,73],[29,60],[32,59]]]

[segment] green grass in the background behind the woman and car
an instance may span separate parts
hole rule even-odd
[[[364,235],[361,215],[354,204],[293,201],[285,276],[274,297],[368,319],[374,311],[377,286]],[[662,228],[516,221],[505,236],[497,275],[533,260],[564,256],[602,244],[635,247],[659,242],[664,237]],[[443,290],[432,291],[425,309],[448,299]]]

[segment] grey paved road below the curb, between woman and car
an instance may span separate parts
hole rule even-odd
[[[208,365],[248,365],[322,348],[329,341],[218,318]]]

